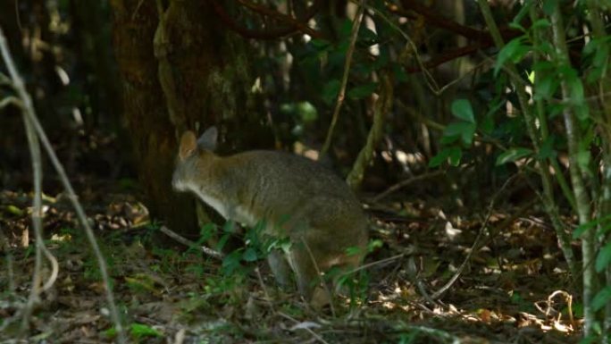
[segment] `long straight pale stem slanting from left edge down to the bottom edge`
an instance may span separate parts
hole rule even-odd
[[[80,206],[79,199],[76,196],[74,189],[72,189],[71,182],[70,180],[68,180],[68,176],[66,175],[66,172],[63,169],[63,165],[62,163],[60,163],[59,159],[57,158],[57,155],[55,155],[53,147],[51,146],[51,142],[49,142],[49,139],[46,137],[45,130],[42,128],[42,125],[38,121],[38,117],[36,115],[36,112],[34,111],[34,105],[32,105],[32,99],[25,88],[21,76],[15,68],[15,64],[13,63],[13,58],[11,57],[8,45],[6,43],[6,38],[4,38],[4,32],[2,28],[0,28],[0,52],[2,53],[4,64],[6,65],[6,68],[8,69],[9,74],[11,75],[11,79],[13,80],[14,88],[17,91],[18,96],[21,98],[21,102],[23,103],[23,113],[27,116],[28,121],[31,122],[33,129],[37,131],[38,138],[40,139],[40,142],[42,142],[43,147],[45,147],[46,153],[49,156],[49,159],[51,160],[51,164],[53,164],[55,171],[59,175],[63,187],[64,189],[66,189],[66,193],[68,194],[68,197],[71,200],[72,206],[74,206],[80,224],[85,230],[89,244],[91,245],[91,248],[93,248],[97,264],[100,269],[100,274],[102,275],[102,280],[105,283],[106,300],[108,302],[108,308],[110,310],[110,315],[113,320],[115,330],[117,331],[117,340],[121,344],[124,344],[127,342],[127,340],[125,338],[125,333],[121,325],[119,311],[117,310],[117,307],[114,303],[113,291],[110,286],[110,278],[108,277],[105,258],[104,256],[102,256],[102,252],[100,251],[100,248],[97,245],[96,237],[91,229],[91,226],[89,225],[85,211],[83,210],[83,207]],[[32,288],[35,287],[33,286]]]

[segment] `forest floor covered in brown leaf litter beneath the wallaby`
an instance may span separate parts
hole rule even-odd
[[[82,202],[130,342],[580,339],[579,294],[546,217],[533,207],[452,217],[423,200],[369,205],[374,245],[359,280],[367,288],[352,301],[338,298],[332,307],[314,311],[275,286],[264,259],[244,263],[248,273],[228,274],[223,262],[174,242],[134,196],[106,193]],[[46,246],[59,262],[59,274],[34,308],[29,340],[113,342],[105,286],[69,201],[60,194],[43,203]],[[35,257],[30,205],[31,195],[0,193],[0,342],[16,337],[29,296]],[[468,256],[478,234],[481,245]],[[44,266],[43,282],[50,274]]]

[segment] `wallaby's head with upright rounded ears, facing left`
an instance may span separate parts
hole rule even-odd
[[[199,184],[206,180],[210,165],[213,163],[214,149],[218,130],[210,127],[200,138],[193,131],[185,131],[180,138],[179,154],[172,177],[172,187],[185,191],[189,185]]]

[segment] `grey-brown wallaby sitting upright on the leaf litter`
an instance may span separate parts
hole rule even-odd
[[[344,180],[298,155],[255,150],[215,155],[218,131],[180,138],[173,188],[191,191],[225,219],[290,240],[267,257],[276,281],[286,287],[291,270],[297,288],[311,300],[319,273],[358,267],[367,245],[367,219]],[[349,251],[349,252],[348,252]]]

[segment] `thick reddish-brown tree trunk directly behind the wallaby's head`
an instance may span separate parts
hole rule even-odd
[[[171,186],[177,139],[222,122],[232,143],[255,140],[263,122],[248,91],[247,42],[223,28],[205,1],[111,4],[124,116],[147,205],[172,230],[197,235],[193,198]]]

